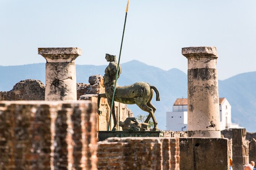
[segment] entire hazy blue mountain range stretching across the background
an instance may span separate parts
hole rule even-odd
[[[148,82],[158,88],[161,101],[152,103],[157,107],[155,116],[158,127],[166,127],[166,111],[172,111],[176,98],[187,98],[187,75],[179,69],[164,71],[158,67],[148,66],[139,61],[123,63],[119,85],[130,85],[135,82]],[[104,74],[105,66],[77,65],[77,82],[88,83],[88,77],[94,74]],[[23,66],[0,66],[0,91],[9,91],[15,83],[24,79],[38,79],[45,82],[45,63]],[[232,121],[240,123],[249,132],[256,132],[256,72],[233,76],[219,80],[220,97],[228,99],[232,106]],[[136,105],[128,106],[134,115],[147,113]]]

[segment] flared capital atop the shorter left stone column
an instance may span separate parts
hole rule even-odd
[[[47,63],[73,63],[79,55],[82,55],[82,49],[76,47],[38,48],[38,54],[42,55]]]

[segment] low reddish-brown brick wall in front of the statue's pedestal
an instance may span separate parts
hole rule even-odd
[[[108,138],[97,156],[98,170],[179,170],[179,139]]]

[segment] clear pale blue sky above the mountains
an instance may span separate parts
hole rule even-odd
[[[79,47],[77,64],[119,54],[127,0],[0,0],[0,65],[44,63],[38,47]],[[216,46],[218,77],[256,71],[256,0],[130,0],[121,63],[187,72],[182,47]]]

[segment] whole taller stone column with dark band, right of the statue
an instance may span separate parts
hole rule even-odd
[[[220,138],[216,47],[186,47],[188,58],[188,137]]]

